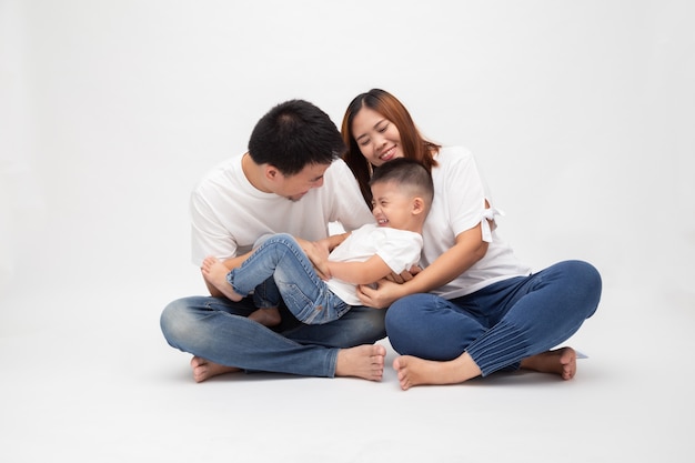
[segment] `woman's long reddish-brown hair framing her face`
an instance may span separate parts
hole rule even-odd
[[[403,103],[401,103],[391,93],[372,89],[366,93],[361,93],[348,107],[343,117],[341,133],[343,141],[348,145],[348,151],[343,155],[343,160],[352,170],[357,179],[360,191],[364,197],[364,201],[372,207],[372,191],[370,190],[370,178],[374,167],[362,155],[360,147],[352,133],[352,122],[362,108],[369,108],[379,112],[393,123],[401,134],[401,147],[405,158],[414,159],[425,167],[427,172],[436,165],[434,154],[442,148],[440,144],[425,140],[413,122],[411,114],[407,112]]]

